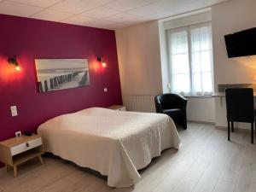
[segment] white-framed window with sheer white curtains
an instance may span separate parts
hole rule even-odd
[[[172,91],[182,95],[211,95],[211,23],[168,30],[167,37]]]

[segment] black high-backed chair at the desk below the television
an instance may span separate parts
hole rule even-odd
[[[253,124],[255,122],[253,89],[229,88],[225,90],[225,95],[228,120],[228,140],[230,141],[230,122],[232,132],[234,131],[234,122],[244,122],[251,124],[253,143]]]

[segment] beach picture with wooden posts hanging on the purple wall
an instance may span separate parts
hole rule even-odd
[[[40,93],[90,85],[87,59],[36,59]]]

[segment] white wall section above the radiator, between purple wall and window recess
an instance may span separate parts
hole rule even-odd
[[[115,32],[122,94],[156,95],[162,91],[158,22]]]

